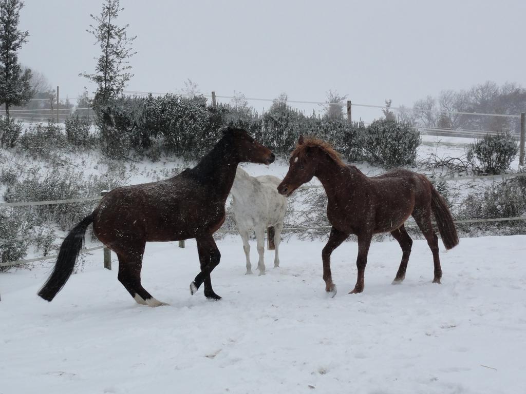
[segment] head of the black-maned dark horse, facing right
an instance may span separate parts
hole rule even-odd
[[[229,127],[223,133],[225,134],[224,138],[230,139],[240,162],[270,164],[276,160],[276,156],[270,149],[262,146],[244,129]]]

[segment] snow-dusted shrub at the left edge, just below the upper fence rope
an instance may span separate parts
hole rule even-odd
[[[16,210],[0,208],[0,262],[7,263],[24,258],[28,242],[24,236],[27,224]],[[8,267],[0,267],[0,272]]]

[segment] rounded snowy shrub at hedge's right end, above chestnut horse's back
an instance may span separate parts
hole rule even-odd
[[[418,130],[394,120],[375,120],[363,135],[363,150],[367,160],[386,167],[413,163],[419,145]]]

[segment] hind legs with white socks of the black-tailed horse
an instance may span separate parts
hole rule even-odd
[[[136,248],[127,248],[116,252],[119,258],[119,273],[117,278],[138,304],[151,307],[168,305],[151,296],[140,283],[140,270],[143,267],[143,254],[145,244]]]

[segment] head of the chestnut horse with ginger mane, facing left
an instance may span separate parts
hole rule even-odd
[[[289,171],[278,185],[279,194],[288,197],[299,186],[312,179],[318,167],[318,160],[314,157],[318,150],[316,147],[306,146],[303,136],[299,137],[298,145],[290,155]]]

